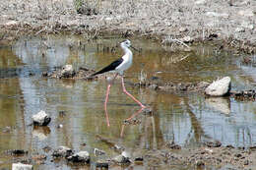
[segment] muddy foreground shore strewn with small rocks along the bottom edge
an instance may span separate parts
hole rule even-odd
[[[166,168],[180,165],[187,168],[231,167],[232,169],[251,169],[256,165],[255,146],[235,148],[232,145],[222,145],[221,142],[202,142],[190,148],[174,142],[164,143],[158,150],[139,149],[131,153],[126,148],[106,138],[97,136],[98,142],[103,142],[113,149],[116,154],[107,155],[104,150],[95,148],[94,154],[88,151],[76,151],[66,146],[48,148],[48,154],[38,154],[23,149],[6,150],[3,155],[12,157],[12,162],[40,165],[47,159],[51,162],[62,162],[74,168],[96,167],[132,168],[138,165]],[[44,149],[44,148],[42,148]],[[83,153],[83,154],[82,154]],[[86,155],[86,156],[85,156]]]

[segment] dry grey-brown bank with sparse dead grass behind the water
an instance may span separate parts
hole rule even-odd
[[[0,42],[23,34],[139,35],[163,44],[211,41],[220,49],[255,53],[255,1],[11,0],[0,6]],[[78,1],[76,1],[78,2]]]

